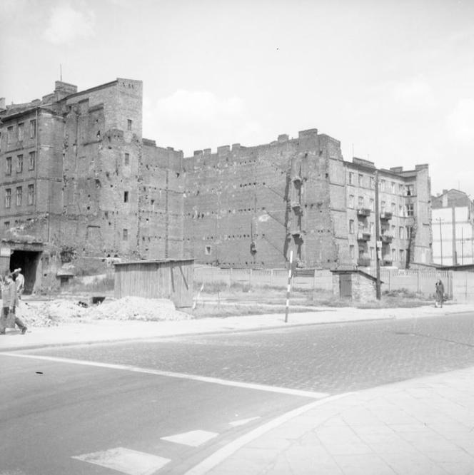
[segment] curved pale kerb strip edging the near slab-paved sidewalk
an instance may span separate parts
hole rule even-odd
[[[266,434],[266,432],[270,431],[271,429],[275,429],[276,427],[280,426],[284,422],[290,421],[291,419],[293,419],[293,417],[300,416],[301,414],[304,414],[305,412],[310,411],[311,409],[315,407],[326,404],[326,402],[335,401],[336,399],[340,399],[341,397],[346,397],[349,394],[352,394],[352,393],[347,392],[345,394],[338,394],[336,396],[323,399],[322,401],[311,402],[310,404],[305,404],[304,406],[298,407],[297,409],[293,409],[290,412],[286,412],[285,414],[282,414],[276,419],[273,419],[270,422],[266,422],[266,424],[263,424],[260,427],[253,429],[253,431],[250,431],[247,434],[244,434],[243,436],[238,437],[238,439],[232,441],[230,444],[227,444],[226,446],[223,446],[221,449],[218,449],[218,451],[208,456],[207,459],[204,459],[196,466],[193,466],[192,469],[186,471],[186,474],[184,475],[207,474],[208,471],[218,466],[218,464],[221,464],[222,461],[224,461],[229,456],[234,454],[236,451],[238,451],[238,449],[241,449],[244,445],[249,444],[251,441],[257,439],[259,436]]]

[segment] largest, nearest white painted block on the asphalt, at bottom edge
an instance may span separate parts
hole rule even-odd
[[[105,466],[107,469],[121,471],[127,475],[151,475],[171,461],[157,455],[124,449],[123,447],[78,455],[72,458],[89,462],[89,464]]]

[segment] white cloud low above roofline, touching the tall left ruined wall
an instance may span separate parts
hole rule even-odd
[[[261,126],[251,119],[241,98],[218,98],[210,91],[178,90],[154,105],[144,99],[144,135],[185,154],[241,142],[255,145]]]

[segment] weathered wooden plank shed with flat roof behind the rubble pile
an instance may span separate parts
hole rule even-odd
[[[166,298],[193,305],[193,259],[137,260],[115,264],[115,297]]]

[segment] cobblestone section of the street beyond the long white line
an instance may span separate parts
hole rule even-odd
[[[32,352],[337,394],[474,365],[474,318],[353,322]]]

